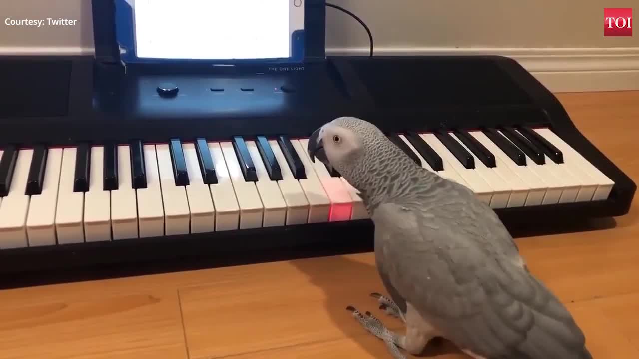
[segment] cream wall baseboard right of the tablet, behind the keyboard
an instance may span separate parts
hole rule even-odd
[[[329,56],[367,56],[369,47],[327,49]],[[500,55],[518,61],[555,93],[639,90],[639,47],[433,48],[383,47],[381,56]]]

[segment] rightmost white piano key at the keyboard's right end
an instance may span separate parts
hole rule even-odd
[[[587,195],[578,195],[577,201],[604,201],[608,198],[613,185],[615,184],[612,179],[608,178],[603,172],[599,171],[597,167],[590,164],[581,154],[561,139],[555,132],[552,132],[550,128],[536,128],[535,132],[542,135],[548,142],[555,145],[557,149],[562,151],[564,155],[564,164],[584,183],[592,184],[596,183],[597,188],[592,195],[592,198],[587,199]]]

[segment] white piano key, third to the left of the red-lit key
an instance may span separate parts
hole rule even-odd
[[[272,181],[270,176],[268,176],[266,166],[262,162],[256,142],[247,141],[246,146],[255,165],[256,176],[258,178],[255,187],[258,189],[259,198],[264,206],[262,226],[276,227],[278,225],[284,225],[286,223],[287,208],[277,181]],[[270,146],[268,146],[268,148],[270,148]]]

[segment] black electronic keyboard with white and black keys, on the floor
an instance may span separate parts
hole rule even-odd
[[[6,280],[371,250],[357,190],[306,150],[339,116],[375,123],[509,227],[623,215],[635,193],[505,57],[328,57],[249,75],[94,60],[0,61]]]

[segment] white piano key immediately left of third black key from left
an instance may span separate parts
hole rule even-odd
[[[73,192],[75,155],[77,148],[65,148],[62,153],[56,233],[58,244],[84,242],[84,192]]]

